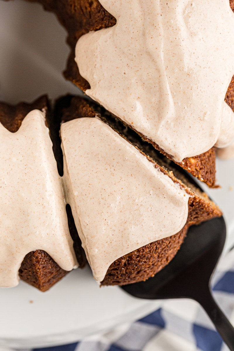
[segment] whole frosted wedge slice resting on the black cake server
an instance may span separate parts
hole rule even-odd
[[[190,225],[221,216],[176,166],[114,115],[78,97],[58,102],[66,201],[101,285],[146,280]]]

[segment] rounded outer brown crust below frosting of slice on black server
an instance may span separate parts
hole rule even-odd
[[[180,249],[191,225],[220,217],[221,212],[198,196],[189,198],[186,225],[177,234],[140,247],[114,261],[101,285],[125,285],[141,282],[161,271]]]

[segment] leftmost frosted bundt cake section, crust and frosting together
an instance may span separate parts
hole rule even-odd
[[[20,278],[46,291],[78,265],[47,127],[51,123],[46,96],[32,104],[0,102],[3,287],[17,285]]]

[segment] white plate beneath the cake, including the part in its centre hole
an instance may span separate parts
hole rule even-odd
[[[69,49],[55,16],[38,4],[0,0],[0,100],[16,104],[78,89],[61,72]],[[217,162],[221,189],[206,191],[222,208],[226,251],[234,245],[234,160]],[[233,187],[233,190],[232,190]],[[160,301],[139,300],[118,287],[99,288],[87,267],[68,274],[46,293],[20,282],[0,290],[0,346],[41,347],[75,342],[145,316]]]

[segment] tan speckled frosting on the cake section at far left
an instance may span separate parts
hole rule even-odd
[[[0,286],[19,282],[28,252],[46,251],[58,265],[77,267],[45,115],[27,114],[16,133],[0,124]]]

